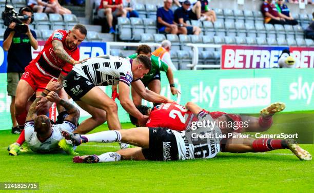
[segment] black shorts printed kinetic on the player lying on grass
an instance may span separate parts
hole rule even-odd
[[[149,127],[149,148],[142,148],[142,153],[147,160],[170,161],[179,160],[178,146],[174,134],[169,128]]]

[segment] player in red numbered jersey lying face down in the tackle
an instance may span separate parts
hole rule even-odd
[[[173,130],[183,131],[186,128],[185,117],[191,117],[192,112],[189,108],[195,104],[192,102],[187,103],[186,107],[176,103],[166,103],[153,108],[140,105],[136,108],[144,114],[148,115],[149,119],[146,125],[140,125],[138,120],[129,114],[131,123],[136,126],[146,127],[167,127]],[[213,119],[220,118],[223,120],[232,120],[233,123],[246,122],[247,125],[239,124],[234,125],[233,130],[235,132],[256,132],[265,131],[272,125],[272,115],[276,112],[280,112],[285,109],[285,104],[282,102],[272,103],[268,107],[263,108],[260,111],[260,117],[252,117],[246,115],[230,114],[220,111],[208,112]],[[191,120],[191,119],[190,119]],[[249,121],[248,121],[249,120]],[[193,120],[192,120],[193,121]],[[195,121],[195,120],[194,120]]]

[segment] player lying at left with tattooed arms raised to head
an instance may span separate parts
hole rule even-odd
[[[51,84],[54,86],[49,86]],[[56,89],[57,87],[58,89]],[[52,82],[52,80],[48,83],[46,88],[56,91],[61,89],[60,83]],[[66,111],[68,115],[61,124],[52,124],[51,120],[46,115],[37,115],[37,111],[40,108],[38,108],[38,106],[36,107],[36,105],[39,101],[46,104],[48,101],[56,103],[60,105],[60,110]],[[25,141],[28,147],[37,153],[59,152],[63,149],[71,155],[78,155],[78,153],[73,150],[72,145],[67,144],[61,133],[63,130],[75,131],[78,118],[80,118],[80,110],[71,103],[61,99],[56,92],[50,91],[46,97],[45,94],[37,96],[27,113],[24,130],[18,140],[8,147],[9,155],[17,156],[20,152],[21,145]]]

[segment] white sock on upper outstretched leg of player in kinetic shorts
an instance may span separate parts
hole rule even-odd
[[[102,131],[92,134],[82,134],[82,137],[87,138],[87,142],[101,142],[101,143],[112,143],[121,141],[121,133],[117,130]]]

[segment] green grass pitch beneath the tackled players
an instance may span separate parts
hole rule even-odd
[[[123,128],[131,127],[123,124]],[[94,132],[102,130],[107,130],[107,125]],[[0,130],[0,182],[38,182],[40,190],[33,192],[311,192],[314,189],[313,162],[299,161],[287,149],[267,153],[220,152],[209,160],[74,164],[72,156],[66,154],[27,152],[8,156],[6,149],[16,139],[17,135],[10,130]],[[314,145],[301,146],[314,154]],[[79,146],[77,152],[100,155],[117,149],[117,143],[89,143]]]

